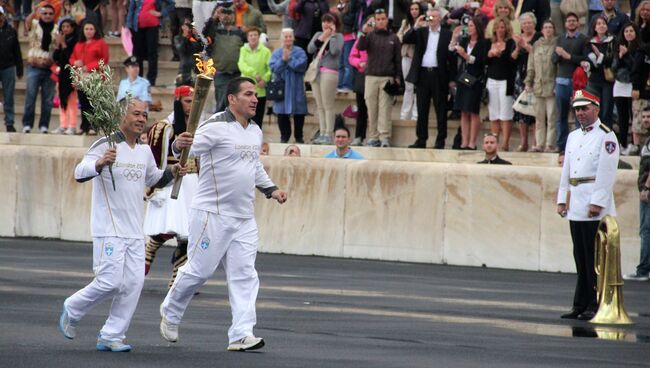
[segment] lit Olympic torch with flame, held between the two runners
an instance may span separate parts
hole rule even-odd
[[[192,108],[190,110],[190,116],[187,120],[187,132],[194,135],[196,128],[199,124],[199,118],[203,112],[203,107],[205,106],[205,101],[208,97],[208,92],[210,92],[210,86],[212,85],[212,80],[214,74],[217,70],[212,66],[212,59],[204,60],[201,58],[200,54],[195,54],[196,58],[196,68],[199,70],[200,74],[196,77],[196,83],[194,84],[194,99],[192,100]],[[190,148],[184,148],[181,151],[180,163],[185,165],[187,163],[187,158],[190,155]],[[178,199],[178,192],[181,189],[181,183],[183,182],[183,177],[179,176],[174,180],[174,186],[172,187],[172,199]]]

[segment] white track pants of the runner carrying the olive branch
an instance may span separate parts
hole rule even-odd
[[[144,240],[94,238],[93,272],[93,281],[66,299],[70,317],[80,320],[95,305],[113,297],[99,333],[103,339],[122,341],[144,284]]]

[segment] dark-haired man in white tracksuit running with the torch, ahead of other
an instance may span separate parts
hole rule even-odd
[[[191,145],[190,157],[199,157],[199,188],[190,214],[188,260],[160,305],[160,333],[178,340],[178,325],[195,291],[222,264],[228,282],[232,325],[228,350],[261,348],[253,335],[259,279],[255,271],[258,232],[255,188],[267,198],[284,203],[287,194],[268,177],[259,159],[262,131],[255,124],[255,82],[238,77],[228,83],[228,108],[204,121],[192,139],[176,138],[175,153]]]

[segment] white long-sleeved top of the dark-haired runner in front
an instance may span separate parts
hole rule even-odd
[[[199,188],[191,208],[253,218],[255,188],[277,189],[260,161],[262,130],[252,120],[244,127],[226,109],[199,125],[190,157],[199,158]],[[178,152],[174,152],[178,155]]]

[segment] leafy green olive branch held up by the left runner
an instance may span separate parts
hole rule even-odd
[[[115,97],[113,86],[113,70],[103,60],[99,61],[99,67],[91,72],[85,72],[81,67],[72,65],[66,66],[70,69],[70,76],[73,85],[86,94],[91,111],[84,111],[92,128],[106,137],[110,148],[115,147],[113,133],[119,130],[119,125],[126,113],[130,94],[127,93],[127,103],[120,103]],[[113,190],[115,190],[115,178],[113,177],[113,165],[108,166],[111,174]]]

